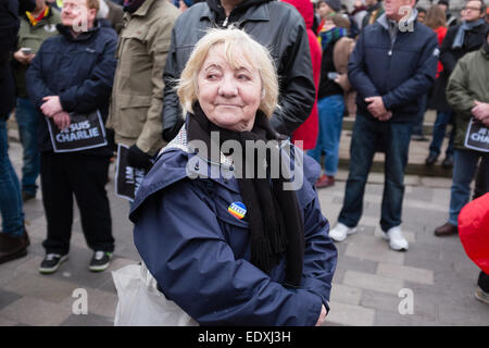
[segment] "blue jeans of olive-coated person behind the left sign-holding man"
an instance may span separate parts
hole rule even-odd
[[[37,127],[40,114],[28,99],[17,98],[15,119],[18,125],[23,153],[22,191],[36,195],[36,179],[39,175],[40,157],[37,145]]]

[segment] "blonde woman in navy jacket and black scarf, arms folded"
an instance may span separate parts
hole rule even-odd
[[[277,86],[268,52],[244,32],[206,34],[178,85],[186,124],[130,212],[159,289],[201,325],[321,325],[327,313],[337,250],[313,188],[319,167],[304,157],[304,181],[289,190],[285,171],[258,175],[286,151],[255,159],[247,147],[288,144],[268,122]],[[224,150],[227,140],[238,146]]]

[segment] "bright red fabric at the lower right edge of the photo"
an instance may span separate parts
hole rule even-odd
[[[461,210],[459,236],[471,260],[489,274],[489,194]]]

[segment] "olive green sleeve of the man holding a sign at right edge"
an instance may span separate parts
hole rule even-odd
[[[462,58],[455,65],[453,73],[450,75],[447,85],[447,101],[456,112],[457,116],[467,120],[472,116],[472,108],[475,107],[474,96],[468,92],[468,67],[465,60]]]

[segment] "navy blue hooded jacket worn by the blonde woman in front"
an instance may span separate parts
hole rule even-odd
[[[304,156],[304,181],[297,190],[304,219],[303,276],[291,289],[280,284],[285,260],[269,275],[250,262],[248,222],[228,212],[242,201],[236,178],[190,179],[193,165],[187,164],[196,156],[180,130],[131,207],[136,247],[161,290],[202,325],[314,325],[322,303],[328,308],[337,262],[313,186],[318,164]],[[204,163],[199,173],[216,166]]]

